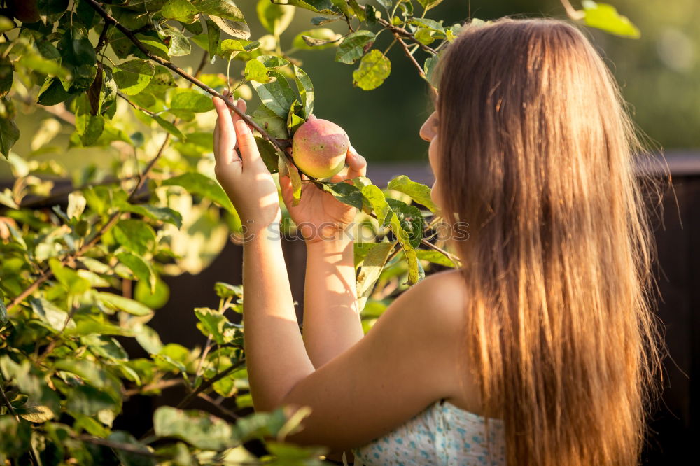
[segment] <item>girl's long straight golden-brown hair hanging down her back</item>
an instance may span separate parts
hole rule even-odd
[[[640,144],[558,20],[468,26],[438,69],[437,187],[468,288],[465,363],[509,465],[636,465],[659,390]]]

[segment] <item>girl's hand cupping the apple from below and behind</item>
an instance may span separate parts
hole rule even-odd
[[[314,118],[313,115],[311,118]],[[367,173],[365,157],[359,155],[352,146],[348,149],[345,161],[349,165],[347,174],[344,174],[345,169],[343,169],[339,174],[330,178],[330,181],[337,183],[356,176],[365,176]],[[302,179],[308,178],[302,175]],[[289,215],[297,224],[299,232],[307,244],[323,240],[350,239],[346,235],[348,232],[344,232],[344,230],[354,220],[357,209],[338,201],[330,192],[318,189],[313,183],[302,184],[302,197],[299,204],[295,206],[293,205],[292,181],[289,176],[280,176],[279,185]]]

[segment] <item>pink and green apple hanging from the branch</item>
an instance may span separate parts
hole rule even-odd
[[[294,164],[307,176],[330,178],[345,167],[347,133],[334,122],[314,118],[297,128],[292,139]]]

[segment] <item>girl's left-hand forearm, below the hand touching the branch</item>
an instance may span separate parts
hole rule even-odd
[[[299,332],[279,233],[256,234],[244,244],[244,346],[256,411],[279,406],[289,390],[314,372]]]

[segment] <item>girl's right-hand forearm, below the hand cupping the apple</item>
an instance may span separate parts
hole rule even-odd
[[[303,334],[314,367],[364,336],[356,296],[353,241],[308,244]]]

